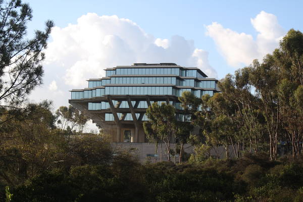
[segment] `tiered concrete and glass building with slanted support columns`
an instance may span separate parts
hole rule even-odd
[[[142,122],[154,102],[175,106],[178,119],[183,91],[197,97],[219,91],[218,81],[200,69],[174,63],[135,63],[105,71],[106,77],[87,80],[88,88],[71,90],[69,103],[111,134],[113,142],[147,142]]]

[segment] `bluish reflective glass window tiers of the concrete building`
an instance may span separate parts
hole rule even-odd
[[[132,96],[132,107],[135,110],[141,110],[139,113],[135,112],[137,119],[145,121],[147,118],[142,110],[148,108],[148,102],[142,99],[145,99],[146,95],[150,95],[151,104],[156,102],[153,100],[153,96],[155,96],[159,105],[169,102],[177,110],[182,110],[177,97],[181,96],[184,91],[190,91],[197,97],[204,94],[213,96],[215,92],[219,91],[216,79],[207,78],[197,68],[185,68],[175,64],[134,64],[133,66],[108,68],[106,77],[89,79],[87,87],[72,90],[71,100],[81,100],[87,106],[88,111],[104,113],[105,121],[115,121],[107,95],[111,95],[120,121],[133,121],[131,112],[127,111],[129,109],[127,102],[129,96],[127,95]],[[121,95],[125,95],[125,98]],[[168,100],[166,99],[168,96],[173,96],[175,99]],[[107,111],[102,112],[102,110]],[[182,115],[177,114],[176,118],[182,120]]]

